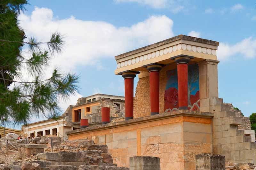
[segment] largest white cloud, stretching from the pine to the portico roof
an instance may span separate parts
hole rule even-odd
[[[77,65],[99,67],[101,58],[114,59],[115,55],[127,50],[173,36],[173,21],[164,15],[151,16],[130,27],[115,27],[107,22],[83,21],[73,16],[54,18],[52,10],[36,7],[31,16],[21,14],[19,20],[27,37],[47,41],[52,32],[65,35],[65,50],[52,60],[52,64],[67,71]]]

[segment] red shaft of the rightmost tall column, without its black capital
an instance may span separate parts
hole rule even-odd
[[[179,109],[188,109],[188,64],[178,63],[177,72]]]

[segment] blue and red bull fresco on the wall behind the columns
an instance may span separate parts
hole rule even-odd
[[[178,110],[178,75],[177,69],[166,71],[167,83],[164,93],[165,112]],[[188,65],[188,109],[200,110],[199,100],[199,72],[198,65]]]

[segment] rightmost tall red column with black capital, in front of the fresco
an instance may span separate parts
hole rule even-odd
[[[179,55],[172,57],[177,63],[179,109],[188,110],[188,63],[192,56]]]

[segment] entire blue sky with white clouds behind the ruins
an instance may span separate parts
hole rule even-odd
[[[219,97],[244,115],[255,109],[256,1],[235,0],[30,0],[20,26],[28,36],[66,36],[66,49],[53,67],[80,74],[77,97],[94,93],[124,95],[123,78],[114,74],[115,55],[179,34],[220,42],[217,51]],[[135,87],[138,78],[135,78]],[[32,119],[31,122],[38,120]]]

